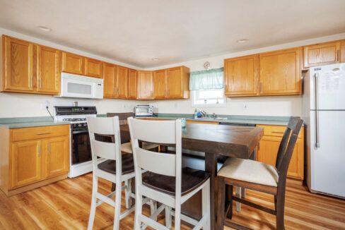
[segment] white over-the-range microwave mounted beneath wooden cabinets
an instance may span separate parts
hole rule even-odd
[[[59,97],[103,99],[103,79],[61,73]]]

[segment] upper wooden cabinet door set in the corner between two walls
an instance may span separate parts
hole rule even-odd
[[[138,99],[153,99],[153,72],[138,71]]]

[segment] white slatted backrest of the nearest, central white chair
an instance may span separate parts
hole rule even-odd
[[[176,196],[181,195],[182,131],[181,120],[147,121],[128,119],[134,157],[136,181],[141,184],[141,169],[176,177]],[[175,145],[176,154],[153,152],[139,147],[139,140],[147,143]]]

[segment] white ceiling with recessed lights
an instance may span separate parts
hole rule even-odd
[[[0,0],[0,28],[150,68],[345,32],[345,1]]]

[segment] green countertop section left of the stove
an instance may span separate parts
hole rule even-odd
[[[67,125],[69,122],[52,121],[50,116],[37,117],[18,117],[18,118],[0,118],[0,126],[6,128],[29,128],[37,126],[60,126]]]

